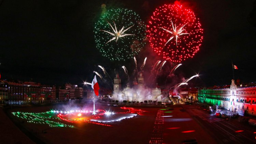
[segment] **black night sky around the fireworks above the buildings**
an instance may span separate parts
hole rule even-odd
[[[199,72],[200,78],[191,81],[190,86],[229,85],[233,77],[231,60],[238,67],[234,70],[235,79],[241,83],[256,82],[255,0],[180,2],[200,18],[204,40],[195,57],[183,61],[175,72],[175,80],[169,79],[168,83],[178,83]],[[93,29],[103,3],[107,9],[131,9],[147,23],[156,8],[174,1],[0,0],[1,79],[83,86],[83,81],[91,82],[94,70],[103,74],[95,67],[98,65],[112,78],[115,72],[125,78],[121,67],[126,66],[132,78],[133,59],[113,62],[102,57],[96,48]],[[150,59],[144,69],[145,76],[161,60],[148,44],[136,57],[138,68],[145,57]],[[154,83],[164,85],[165,74],[176,64],[166,64]],[[108,88],[110,80],[104,81],[100,85]]]

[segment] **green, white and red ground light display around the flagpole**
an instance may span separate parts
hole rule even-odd
[[[125,110],[125,112],[115,113],[105,110],[97,110],[96,115],[92,115],[92,110],[51,110],[42,113],[13,112],[12,114],[19,118],[26,119],[28,123],[45,124],[50,127],[74,128],[72,125],[74,123],[90,123],[102,126],[111,126],[108,123],[132,118],[145,112],[132,107],[120,108]]]

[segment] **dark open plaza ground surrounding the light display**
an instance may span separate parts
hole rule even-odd
[[[155,124],[158,111],[163,111],[163,143],[180,144],[186,139],[196,138],[198,143],[256,143],[254,128],[247,124],[240,123],[238,119],[223,119],[211,115],[203,107],[192,105],[171,105],[167,108],[154,106],[134,106],[136,109],[145,110],[140,116],[122,121],[109,123],[112,127],[78,123],[75,128],[56,127],[48,125],[31,124],[19,119],[11,112],[45,112],[52,109],[63,110],[72,107],[92,107],[91,104],[75,105],[48,105],[48,106],[26,106],[12,107],[8,110],[9,118],[1,110],[1,135],[6,136],[6,140],[12,139],[11,143],[122,143],[122,144],[146,144],[149,143]],[[96,104],[97,109],[111,110],[114,112],[124,112],[120,107],[107,106],[106,104]],[[173,109],[168,109],[173,108]],[[160,110],[163,109],[163,110]],[[164,110],[165,109],[165,110]],[[18,129],[11,121],[24,129]],[[8,124],[8,125],[7,125]],[[68,123],[67,123],[68,124]],[[18,126],[18,127],[19,127]],[[19,128],[20,128],[19,127]],[[13,131],[5,133],[9,128]],[[12,133],[12,134],[10,134]],[[5,139],[0,143],[9,143]]]

